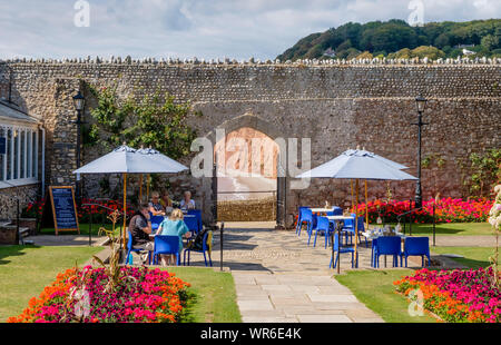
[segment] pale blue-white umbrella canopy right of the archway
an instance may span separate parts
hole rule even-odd
[[[366,150],[346,150],[336,158],[296,178],[325,177],[370,180],[416,180],[402,171],[405,166]]]

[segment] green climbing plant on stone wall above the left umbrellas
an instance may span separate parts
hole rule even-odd
[[[120,99],[116,85],[90,86],[90,91],[97,106],[90,110],[95,124],[85,131],[87,145],[112,149],[126,142],[135,148],[153,147],[174,159],[189,154],[196,137],[186,122],[191,111],[189,102],[177,103],[173,96],[160,91],[139,100],[134,95]]]

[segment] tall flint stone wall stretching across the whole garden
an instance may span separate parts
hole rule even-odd
[[[428,63],[426,63],[428,62]],[[501,147],[500,60],[448,61],[298,61],[297,63],[235,63],[234,61],[134,61],[100,59],[87,61],[0,62],[0,97],[12,79],[12,98],[30,115],[43,119],[47,128],[47,185],[72,183],[69,164],[75,161],[76,118],[71,96],[86,85],[111,86],[122,97],[141,97],[159,89],[179,101],[189,100],[203,117],[190,117],[199,136],[215,144],[216,127],[238,129],[261,124],[271,138],[312,140],[312,166],[357,145],[416,167],[416,111],[414,98],[422,93],[430,101],[424,121],[423,157],[445,158],[443,167],[423,169],[424,197],[461,196],[459,160],[471,152]],[[86,120],[90,121],[89,107]],[[244,116],[247,114],[247,116]],[[255,120],[253,120],[253,117]],[[249,125],[250,124],[250,125]],[[87,149],[84,162],[100,155]],[[188,165],[193,155],[181,160]],[[88,190],[98,189],[98,177],[85,179]],[[209,179],[189,175],[174,178],[179,198],[184,188],[195,191],[200,204],[210,200]],[[370,183],[370,196],[384,196],[386,184]],[[393,196],[410,198],[415,185],[392,183]],[[347,204],[350,184],[313,180],[306,190],[287,196],[288,213],[297,205]],[[206,207],[208,209],[208,207]]]

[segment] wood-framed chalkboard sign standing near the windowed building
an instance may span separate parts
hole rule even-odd
[[[77,217],[77,204],[75,203],[73,187],[50,186],[50,201],[52,204],[53,227],[58,231],[77,230],[80,234]]]

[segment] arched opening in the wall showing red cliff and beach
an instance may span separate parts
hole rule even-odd
[[[214,147],[219,220],[276,220],[278,151],[272,138],[250,127],[219,138]]]

